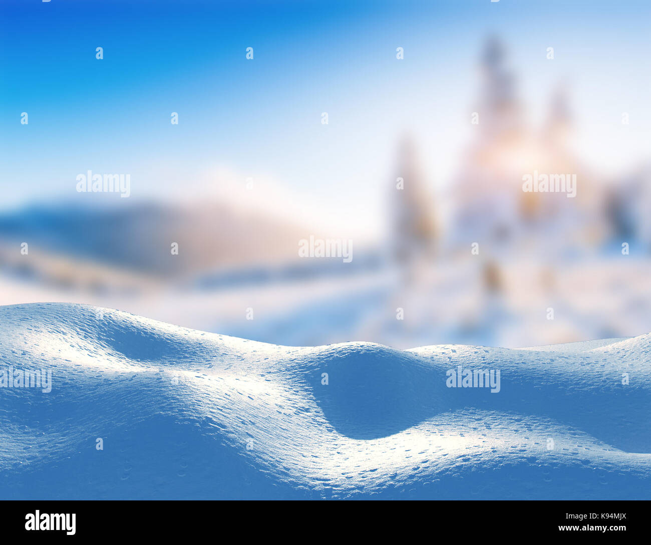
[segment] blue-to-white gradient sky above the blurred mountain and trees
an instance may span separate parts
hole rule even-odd
[[[533,122],[570,84],[574,145],[615,176],[650,149],[650,15],[648,0],[2,0],[1,206],[79,199],[92,169],[130,173],[132,199],[230,194],[372,232],[404,132],[433,188],[449,184],[489,33]]]

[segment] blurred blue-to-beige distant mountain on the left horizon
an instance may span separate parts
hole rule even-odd
[[[56,257],[182,279],[218,268],[296,260],[304,236],[289,221],[214,203],[30,206],[0,215],[0,265],[40,270],[40,262]],[[28,256],[20,253],[23,242],[29,245]],[[173,243],[178,255],[171,251]]]

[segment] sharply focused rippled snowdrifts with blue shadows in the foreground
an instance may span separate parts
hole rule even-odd
[[[0,323],[2,499],[651,498],[651,335],[403,352],[59,303]],[[448,387],[459,366],[499,391]]]

